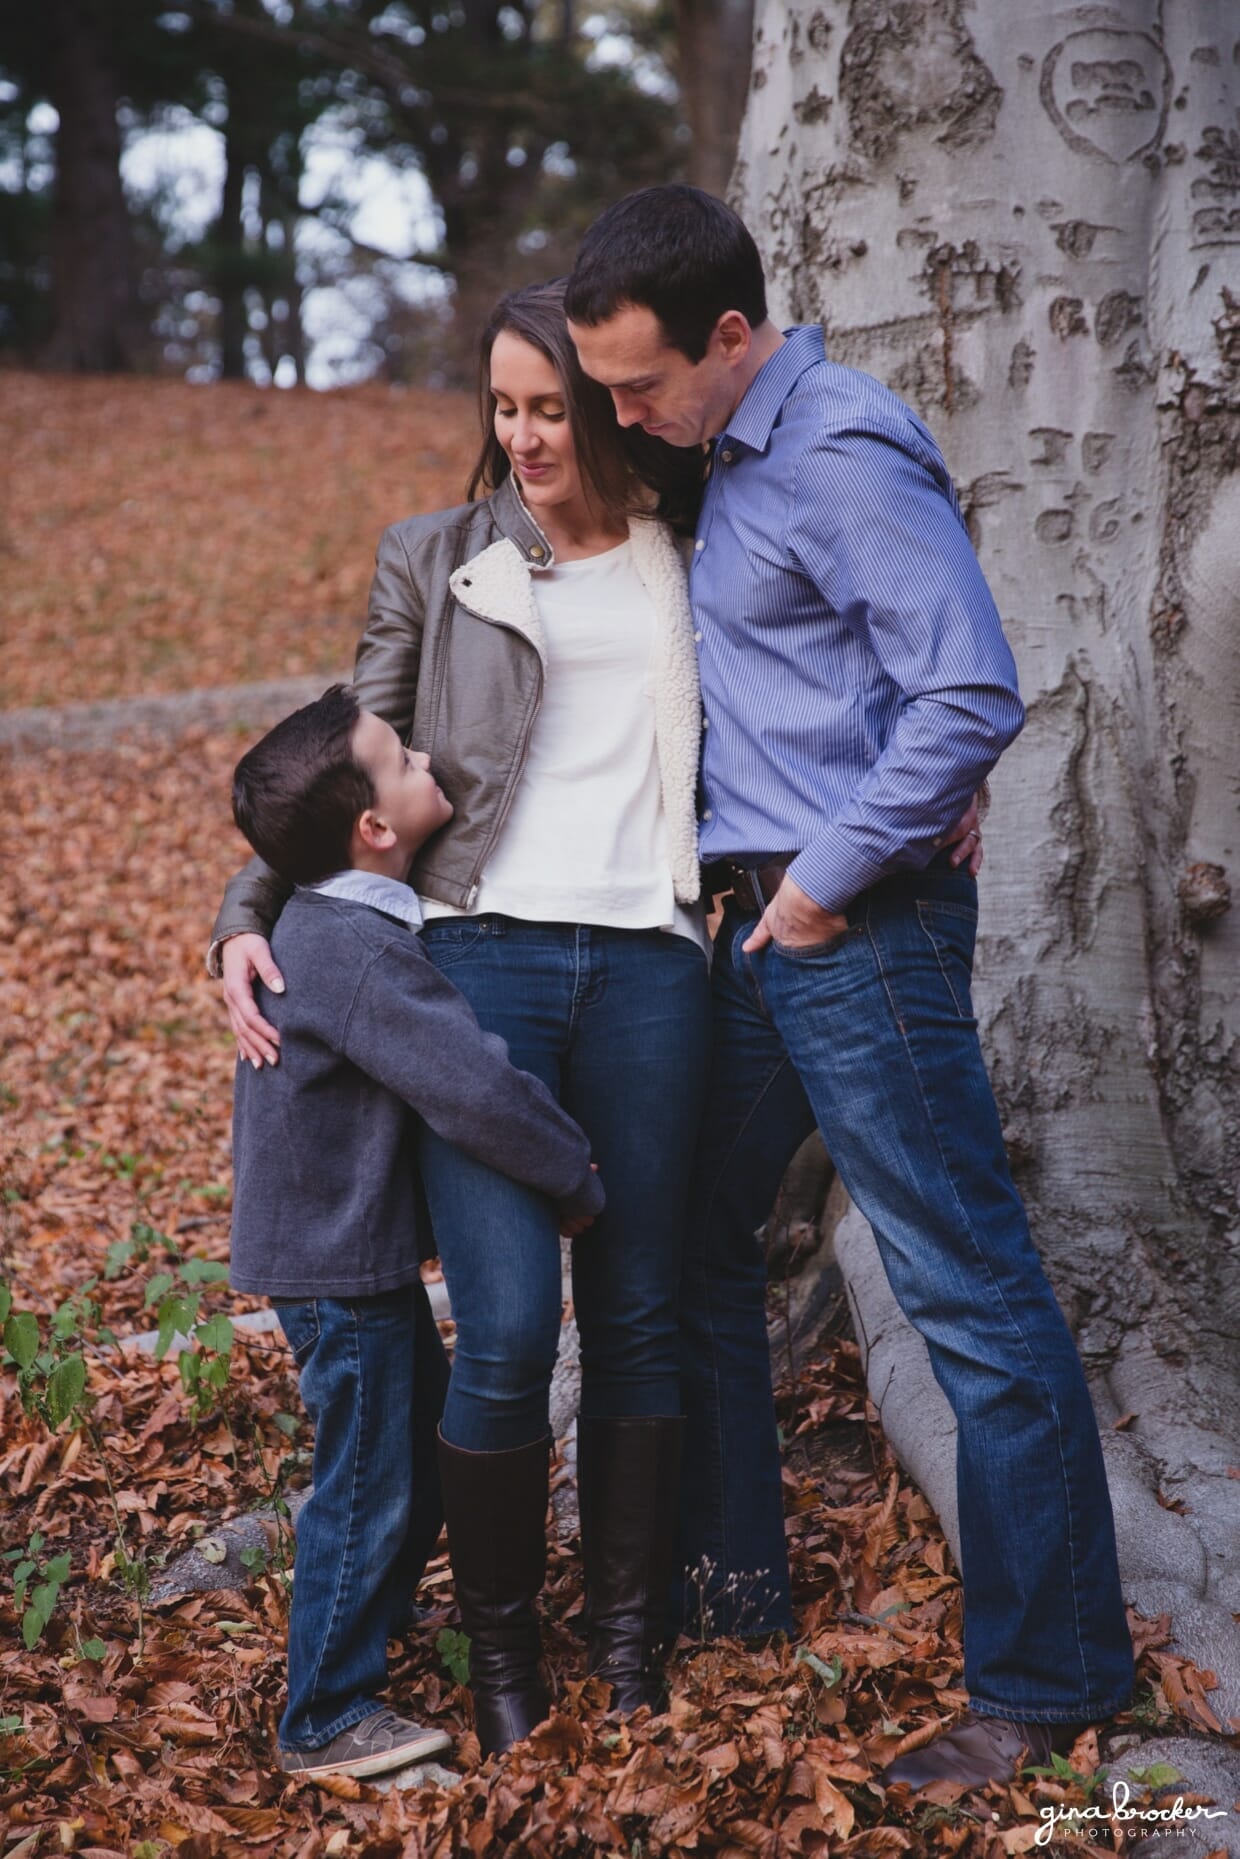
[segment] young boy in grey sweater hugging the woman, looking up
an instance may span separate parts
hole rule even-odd
[[[314,1420],[279,1766],[377,1775],[448,1746],[374,1701],[439,1534],[446,1363],[418,1275],[416,1112],[560,1203],[602,1206],[589,1147],[508,1061],[418,935],[409,863],[452,814],[426,755],[335,684],[238,762],[232,812],[296,885],[262,1011],[281,1061],[236,1069],[232,1285],[271,1298]]]

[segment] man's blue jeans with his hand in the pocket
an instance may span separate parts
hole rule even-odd
[[[682,1288],[686,1606],[714,1632],[792,1625],[755,1231],[816,1123],[956,1413],[972,1708],[1097,1720],[1132,1684],[1106,1470],[982,1061],[976,916],[941,868],[876,885],[814,948],[745,956],[753,916],[725,913]]]

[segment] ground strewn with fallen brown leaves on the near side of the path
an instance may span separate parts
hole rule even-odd
[[[0,850],[17,877],[0,920],[4,1275],[43,1316],[99,1279],[100,1322],[143,1329],[145,1286],[167,1262],[160,1236],[180,1255],[225,1257],[232,1048],[201,948],[238,853],[223,825],[238,747],[199,736],[0,768]],[[136,1233],[147,1259],[121,1260],[115,1247]],[[959,1591],[926,1502],[872,1424],[844,1338],[783,1392],[801,1638],[757,1651],[684,1645],[671,1712],[619,1727],[580,1682],[578,1575],[563,1549],[547,1602],[560,1712],[526,1749],[481,1768],[467,1701],[435,1653],[450,1619],[439,1565],[431,1614],[394,1658],[392,1699],[454,1731],[465,1779],[420,1794],[327,1792],[273,1773],[279,1569],[258,1573],[245,1597],[193,1597],[141,1621],[117,1586],[108,1480],[126,1554],[158,1569],[195,1526],[264,1502],[281,1476],[305,1476],[305,1426],[290,1439],[290,1422],[277,1422],[297,1417],[281,1346],[238,1340],[223,1413],[197,1424],[173,1363],[100,1348],[89,1387],[93,1433],[50,1439],[0,1378],[4,1547],[37,1530],[43,1558],[73,1556],[43,1640],[26,1651],[13,1630],[0,1651],[9,1837],[45,1829],[46,1852],[143,1859],[173,1846],[260,1859],[775,1859],[991,1855],[1032,1842],[1032,1788],[985,1800],[941,1790],[907,1809],[874,1779],[892,1749],[961,1703]],[[7,1599],[6,1614],[17,1628]],[[1145,1662],[1143,1720],[1169,1720],[1175,1699],[1194,1721],[1205,1694],[1192,1671],[1162,1655],[1160,1675],[1156,1658]]]

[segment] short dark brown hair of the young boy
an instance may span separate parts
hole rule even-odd
[[[353,755],[361,716],[351,684],[333,684],[247,749],[232,773],[232,818],[260,859],[290,885],[314,885],[350,864],[359,814],[374,807]]]

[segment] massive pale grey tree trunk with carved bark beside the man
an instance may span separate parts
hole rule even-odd
[[[766,0],[732,184],[775,314],[822,322],[933,428],[1008,623],[1030,716],[995,777],[982,1034],[1132,1510],[1128,1589],[1181,1582],[1220,1634],[1240,1608],[1238,106],[1227,0]],[[890,1381],[892,1312],[866,1305],[872,1240],[855,1216],[840,1240],[892,1437],[950,1513],[917,1378]]]

